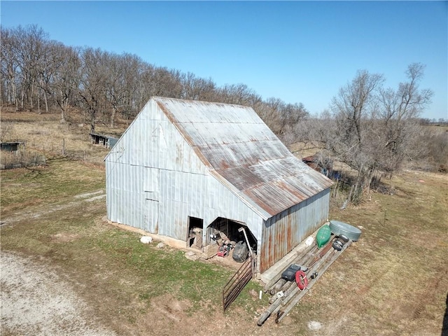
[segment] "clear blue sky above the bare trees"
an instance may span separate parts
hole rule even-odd
[[[386,86],[426,64],[424,118],[448,118],[448,1],[4,1],[1,25],[244,83],[321,113],[358,69]]]

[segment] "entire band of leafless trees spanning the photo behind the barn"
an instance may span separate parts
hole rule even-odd
[[[62,123],[76,108],[91,132],[99,121],[114,127],[118,116],[132,120],[153,96],[251,106],[287,146],[318,144],[323,165],[339,161],[354,169],[352,202],[409,160],[423,158],[447,169],[447,133],[429,132],[419,118],[433,95],[419,87],[423,75],[423,64],[409,64],[405,80],[391,88],[384,87],[382,74],[359,70],[329,110],[310,116],[301,103],[262,99],[242,83],[219,87],[211,78],[155,66],[137,55],[67,46],[36,25],[1,27],[2,106],[37,112],[57,108]]]

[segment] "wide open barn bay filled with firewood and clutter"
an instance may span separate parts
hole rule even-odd
[[[246,232],[249,246],[247,246],[244,232]],[[224,245],[228,246],[228,251],[223,251]],[[233,257],[232,253],[235,250],[239,251],[241,248],[243,248],[243,251],[244,248],[247,251],[251,249],[255,253],[257,251],[257,239],[255,239],[245,223],[218,217],[207,227],[206,244],[204,246],[206,258],[214,257],[214,255]],[[241,260],[241,258],[236,258],[235,255],[234,260],[241,262],[246,257],[247,255],[243,255],[243,259]]]

